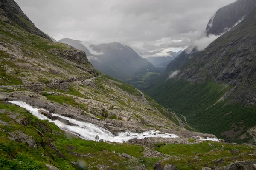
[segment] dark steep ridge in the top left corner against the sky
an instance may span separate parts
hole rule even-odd
[[[36,34],[40,37],[51,40],[47,34],[44,34],[41,30],[35,27],[34,23],[23,13],[18,4],[13,0],[0,0],[0,14],[1,20],[5,22],[13,22],[21,28],[25,29],[31,34]],[[6,20],[5,17],[9,19]]]

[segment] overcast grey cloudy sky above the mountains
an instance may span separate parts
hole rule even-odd
[[[179,51],[204,35],[209,19],[236,0],[16,0],[56,40],[121,42],[137,52]]]

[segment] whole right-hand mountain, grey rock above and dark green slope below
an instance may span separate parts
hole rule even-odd
[[[254,143],[255,40],[253,11],[204,51],[166,72],[169,80],[147,94],[201,132]]]

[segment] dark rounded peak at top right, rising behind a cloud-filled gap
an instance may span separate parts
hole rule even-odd
[[[256,0],[237,0],[220,8],[207,24],[207,35],[219,35],[232,28],[239,20],[250,14],[256,8]]]

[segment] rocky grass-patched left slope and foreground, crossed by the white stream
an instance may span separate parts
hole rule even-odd
[[[256,159],[256,147],[185,130],[142,92],[96,72],[84,51],[4,15],[0,45],[0,169],[194,170]]]

